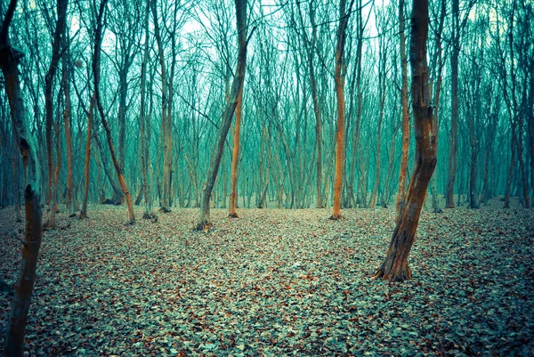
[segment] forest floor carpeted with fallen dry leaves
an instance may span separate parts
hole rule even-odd
[[[142,208],[136,210],[138,217]],[[196,209],[125,226],[125,207],[44,232],[29,355],[534,355],[534,211],[424,213],[413,279],[372,280],[391,209]],[[23,223],[0,210],[0,349]]]

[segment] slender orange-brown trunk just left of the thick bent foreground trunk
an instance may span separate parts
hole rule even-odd
[[[408,57],[406,56],[406,39],[404,34],[404,0],[399,0],[399,27],[401,37],[401,106],[402,106],[402,153],[401,172],[397,189],[397,214],[401,212],[406,200],[406,174],[408,172],[409,154],[409,106],[408,106]]]

